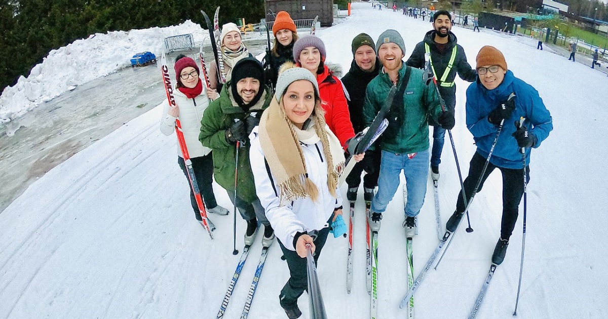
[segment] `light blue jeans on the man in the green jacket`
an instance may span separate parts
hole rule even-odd
[[[429,176],[428,149],[418,152],[412,159],[409,159],[407,154],[393,154],[382,151],[378,193],[371,201],[371,211],[384,213],[399,187],[401,171],[406,176],[406,216],[414,217],[420,213],[426,195],[426,179]]]

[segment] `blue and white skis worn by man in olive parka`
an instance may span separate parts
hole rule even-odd
[[[245,245],[243,253],[241,253],[241,258],[238,261],[237,269],[232,275],[232,280],[230,280],[230,284],[228,285],[228,289],[226,290],[226,295],[224,295],[224,300],[222,301],[222,304],[219,307],[218,315],[216,316],[216,318],[218,319],[224,318],[224,313],[226,312],[228,303],[230,302],[230,297],[232,297],[232,292],[235,286],[237,286],[238,278],[241,276],[241,271],[245,266],[245,262],[247,261],[247,256],[249,256],[250,249],[250,245]],[[246,319],[249,315],[249,309],[251,309],[251,304],[254,300],[255,290],[257,290],[258,283],[260,282],[260,277],[262,275],[262,270],[264,270],[264,264],[266,263],[268,249],[269,247],[262,247],[260,261],[258,262],[258,267],[255,269],[254,279],[251,282],[251,286],[249,287],[249,293],[247,294],[245,306],[243,307],[243,312],[241,313],[241,319]]]

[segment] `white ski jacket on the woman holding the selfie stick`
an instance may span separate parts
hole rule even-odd
[[[323,145],[317,142],[306,145],[300,142],[302,153],[306,161],[308,178],[319,189],[319,199],[313,202],[310,197],[300,198],[288,204],[281,203],[278,196],[278,184],[272,176],[270,168],[266,166],[264,152],[258,139],[258,127],[249,135],[251,146],[249,162],[254,173],[255,191],[266,212],[266,218],[274,228],[277,238],[289,250],[294,250],[294,236],[297,232],[310,232],[328,227],[328,220],[334,209],[342,206],[340,189],[336,189],[336,197],[331,196],[327,187],[327,170]],[[299,157],[294,154],[295,157]]]

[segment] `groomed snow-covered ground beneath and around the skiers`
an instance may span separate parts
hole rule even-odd
[[[407,58],[431,28],[429,22],[372,10],[370,4],[354,3],[353,8],[345,22],[317,32],[325,41],[327,60],[345,69],[352,58],[351,39],[358,33],[377,38],[385,29],[398,30]],[[608,146],[598,141],[608,134],[603,123],[608,112],[604,92],[592,89],[606,87],[608,78],[517,37],[471,33],[458,26],[452,31],[472,66],[482,46],[502,50],[508,68],[536,87],[553,115],[554,131],[532,151],[518,317],[608,317],[607,245],[601,228],[608,222],[603,187]],[[457,126],[452,131],[463,174],[475,151],[464,125],[467,86],[457,78]],[[231,254],[232,216],[212,216],[218,227],[213,241],[195,222],[188,185],[176,163],[175,137],[161,134],[160,117],[161,109],[155,108],[126,123],[50,170],[0,214],[0,318],[212,318],[217,313],[238,261]],[[468,316],[499,237],[501,185],[494,173],[475,197],[470,211],[475,231],[460,230],[438,270],[430,270],[415,295],[416,318]],[[232,208],[226,192],[214,186],[219,204]],[[454,211],[459,189],[446,141],[440,180],[443,222]],[[402,205],[398,192],[382,220],[378,318],[406,317],[398,307],[407,290]],[[353,292],[345,291],[346,239],[328,239],[319,261],[329,318],[368,318],[362,202],[357,208]],[[238,245],[244,228],[239,218]],[[513,317],[521,230],[520,217],[478,318]],[[430,182],[419,232],[414,239],[416,274],[438,244]],[[260,249],[257,241],[226,318],[240,317]],[[278,293],[289,274],[280,256],[274,244],[250,318],[285,318]],[[299,304],[307,318],[306,295]]]

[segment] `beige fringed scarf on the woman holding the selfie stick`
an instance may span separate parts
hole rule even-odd
[[[264,111],[260,121],[260,145],[280,189],[281,202],[311,197],[316,201],[319,190],[308,178],[306,163],[300,143],[312,145],[321,142],[327,165],[327,186],[332,196],[340,174],[344,170],[344,151],[330,128],[325,124],[323,109],[317,103],[311,115],[313,122],[305,130],[295,127],[275,98]],[[299,156],[297,156],[298,154]],[[331,164],[329,164],[331,163]]]

